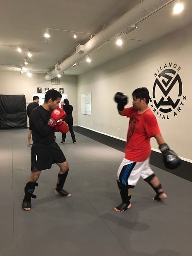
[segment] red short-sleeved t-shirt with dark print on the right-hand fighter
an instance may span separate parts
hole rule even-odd
[[[134,107],[125,108],[124,115],[129,120],[125,158],[134,162],[143,162],[151,154],[150,138],[160,134],[157,119],[151,109],[138,114]]]

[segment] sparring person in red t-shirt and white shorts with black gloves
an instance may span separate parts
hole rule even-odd
[[[151,109],[148,108],[148,89],[145,87],[137,88],[132,93],[132,96],[133,106],[124,109],[124,106],[128,101],[127,96],[120,92],[115,95],[115,101],[118,103],[117,109],[119,115],[125,115],[130,118],[125,146],[125,157],[117,171],[117,185],[119,187],[122,203],[114,208],[116,212],[124,212],[131,207],[129,201],[131,199],[131,188],[134,188],[140,176],[148,182],[156,192],[153,200],[159,201],[167,198],[159,179],[149,165],[151,137],[156,138],[157,143],[160,146],[159,148],[164,154],[163,157],[169,157],[170,159],[171,156],[171,161],[169,161],[169,163],[167,162],[167,159],[164,159],[167,168],[173,169],[180,165],[180,160],[175,152],[170,150],[163,140],[157,120]]]

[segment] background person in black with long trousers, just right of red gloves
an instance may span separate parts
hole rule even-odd
[[[63,121],[65,121],[68,124],[73,143],[76,143],[76,136],[75,136],[75,133],[73,132],[73,115],[72,115],[73,106],[70,105],[69,100],[64,99],[64,101],[61,102],[61,109],[63,109],[64,112],[66,112],[67,114],[67,116],[63,119]],[[66,138],[66,133],[63,133],[61,143],[65,143],[65,138]]]

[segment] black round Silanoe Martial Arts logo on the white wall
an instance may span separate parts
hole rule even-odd
[[[179,75],[181,67],[172,62],[157,69],[150,98],[151,109],[161,119],[177,116],[184,106],[186,96],[182,95],[183,86]]]

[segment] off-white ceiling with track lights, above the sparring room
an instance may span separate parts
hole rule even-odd
[[[26,68],[33,73],[52,71],[85,44],[94,34],[113,24],[142,0],[1,0],[0,1],[0,71],[20,72],[24,59]],[[173,15],[172,1],[145,18],[134,31],[121,35],[122,46],[112,38],[89,54],[92,61],[82,59],[67,75],[79,75],[117,56],[127,53],[158,37],[180,29],[192,22],[192,0],[181,0],[184,10]],[[49,29],[50,38],[44,38]],[[73,38],[75,31],[77,38]],[[83,32],[83,33],[78,33]],[[119,31],[120,32],[120,31]],[[45,43],[44,41],[47,41]],[[20,47],[22,52],[17,51]],[[30,49],[32,57],[27,53]],[[22,74],[25,75],[25,74]]]

